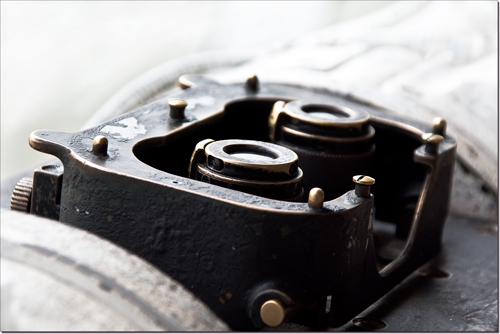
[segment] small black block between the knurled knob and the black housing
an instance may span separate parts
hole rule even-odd
[[[59,220],[64,167],[45,165],[33,173],[31,213]]]

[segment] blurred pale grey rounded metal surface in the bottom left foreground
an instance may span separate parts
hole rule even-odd
[[[179,283],[57,221],[2,209],[2,331],[224,331]]]

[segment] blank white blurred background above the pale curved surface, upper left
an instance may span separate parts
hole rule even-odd
[[[79,130],[141,73],[205,50],[270,49],[391,1],[1,1],[1,176],[47,161],[36,129]]]

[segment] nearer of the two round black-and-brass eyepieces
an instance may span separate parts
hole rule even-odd
[[[302,198],[302,171],[295,152],[252,140],[206,139],[191,156],[191,178],[254,195],[297,201]]]

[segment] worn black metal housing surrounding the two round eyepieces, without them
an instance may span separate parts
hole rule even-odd
[[[421,135],[431,126],[348,96],[282,84],[252,91],[200,76],[183,82],[191,82],[177,96],[188,103],[187,122],[172,121],[160,99],[85,131],[31,134],[34,149],[64,165],[60,221],[151,262],[235,330],[262,326],[256,298],[276,294],[291,299],[299,321],[340,326],[438,254],[455,161],[451,137],[430,154]],[[370,114],[376,133],[372,196],[349,191],[317,210],[188,178],[200,140],[267,141],[273,104],[295,99]],[[108,138],[106,156],[92,153],[97,135]],[[374,209],[378,219],[396,223],[412,200],[406,246],[381,266]]]

